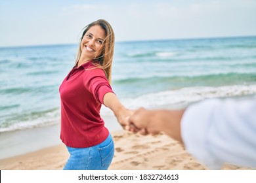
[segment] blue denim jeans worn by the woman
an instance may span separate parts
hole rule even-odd
[[[70,158],[64,170],[107,170],[114,157],[114,141],[108,138],[96,146],[89,148],[68,147]]]

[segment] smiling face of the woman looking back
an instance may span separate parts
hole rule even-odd
[[[100,25],[94,25],[88,29],[80,44],[81,59],[87,61],[100,57],[104,48],[105,38],[105,31]]]

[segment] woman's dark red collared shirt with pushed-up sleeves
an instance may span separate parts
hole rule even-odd
[[[74,67],[64,78],[59,92],[62,142],[73,148],[103,142],[109,131],[100,117],[100,107],[104,95],[113,92],[104,71],[92,61]]]

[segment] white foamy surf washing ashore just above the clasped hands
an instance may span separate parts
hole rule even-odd
[[[210,98],[239,97],[255,95],[256,85],[234,85],[220,87],[189,87],[179,90],[148,93],[136,98],[123,99],[127,108],[165,108],[186,106],[190,103]]]

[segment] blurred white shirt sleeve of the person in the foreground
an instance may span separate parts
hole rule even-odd
[[[256,97],[207,99],[190,105],[181,120],[186,150],[210,169],[224,163],[256,167]]]

